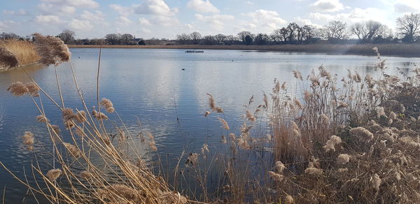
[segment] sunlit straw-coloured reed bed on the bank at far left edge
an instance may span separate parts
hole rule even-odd
[[[18,62],[14,64],[4,64],[5,60],[1,60],[3,61],[3,64],[0,64],[0,71],[6,71],[10,68],[15,68],[16,66],[33,64],[41,59],[35,50],[34,43],[29,41],[3,40],[0,41],[0,49],[6,50],[13,56],[14,59],[9,59],[9,61],[13,60]]]

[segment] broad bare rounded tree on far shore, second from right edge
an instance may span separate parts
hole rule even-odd
[[[350,27],[350,31],[363,42],[370,42],[379,36],[387,38],[391,34],[391,30],[386,25],[373,20],[355,23]]]

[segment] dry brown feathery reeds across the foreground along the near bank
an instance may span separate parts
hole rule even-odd
[[[69,61],[62,41],[37,38],[44,42],[36,50],[45,65]],[[60,99],[34,80],[8,88],[34,102],[40,112],[34,117],[50,137],[42,150],[53,158],[50,169],[36,160],[31,166],[42,184],[10,173],[51,203],[419,203],[420,70],[386,75],[385,60],[373,51],[374,76],[349,71],[339,78],[320,66],[309,76],[293,71],[295,82],[275,80],[271,94],[263,94],[260,103],[252,96],[245,105],[239,130],[208,94],[203,113],[220,122],[220,143],[180,152],[174,169],[165,169],[160,159],[158,168],[150,165],[154,162],[146,158],[156,158],[151,155],[158,155],[159,147],[153,134],[128,131],[118,105],[99,96],[99,85],[96,107],[87,107],[69,62],[80,107],[65,105],[58,75]],[[290,94],[291,87],[302,96]],[[41,99],[62,112],[61,124],[50,122]],[[27,150],[36,152],[34,134],[22,134]],[[165,172],[174,173],[172,181]]]

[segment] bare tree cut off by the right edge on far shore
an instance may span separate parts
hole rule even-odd
[[[420,37],[420,13],[406,14],[397,19],[397,28],[403,41],[412,43]]]

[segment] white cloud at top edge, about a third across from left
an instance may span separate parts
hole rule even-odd
[[[146,0],[133,6],[134,13],[147,15],[174,15],[178,9],[171,9],[163,0]]]

